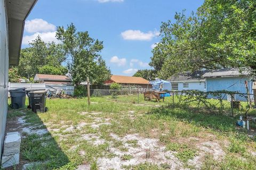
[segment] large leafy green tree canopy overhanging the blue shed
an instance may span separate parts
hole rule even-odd
[[[205,0],[196,13],[163,22],[150,66],[161,78],[222,67],[256,70],[256,1]]]

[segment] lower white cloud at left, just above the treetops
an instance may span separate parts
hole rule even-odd
[[[33,40],[36,39],[36,37],[39,35],[42,40],[45,43],[51,43],[52,41],[54,41],[55,43],[59,44],[61,43],[59,40],[57,40],[57,38],[55,37],[56,31],[53,32],[36,32],[33,35],[30,36],[24,36],[22,39],[22,44],[23,45],[28,45],[29,43],[31,43]]]

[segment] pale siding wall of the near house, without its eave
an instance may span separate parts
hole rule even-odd
[[[9,54],[7,46],[7,21],[4,0],[0,0],[0,154],[4,140],[5,122],[7,114],[7,85]]]

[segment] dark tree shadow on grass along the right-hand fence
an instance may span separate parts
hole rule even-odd
[[[213,114],[204,108],[189,107],[184,104],[175,104],[175,107],[165,106],[153,108],[149,114],[170,116],[183,122],[189,122],[197,126],[221,132],[236,132],[236,117],[228,116],[229,111],[223,110],[223,114]],[[214,112],[216,113],[216,112]],[[226,114],[228,113],[228,114]]]

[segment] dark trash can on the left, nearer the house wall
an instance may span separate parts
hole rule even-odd
[[[25,107],[26,103],[26,88],[18,88],[9,90],[11,95],[11,108],[18,109]]]

